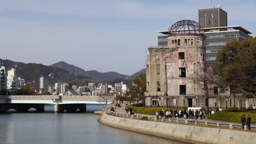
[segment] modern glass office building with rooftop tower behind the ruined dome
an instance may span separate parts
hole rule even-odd
[[[199,9],[199,24],[206,39],[206,64],[216,62],[216,56],[229,41],[243,41],[252,34],[241,26],[228,26],[226,11],[221,8]],[[167,46],[168,31],[159,31],[158,46]]]

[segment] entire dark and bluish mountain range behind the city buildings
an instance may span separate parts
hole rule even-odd
[[[113,71],[109,71],[107,73],[100,73],[96,70],[85,71],[82,68],[76,67],[75,65],[68,64],[66,62],[58,62],[50,66],[38,63],[14,62],[8,59],[0,59],[0,62],[1,65],[3,63],[7,69],[15,68],[15,65],[17,65],[17,75],[22,79],[25,79],[26,82],[32,80],[38,81],[40,76],[48,76],[50,73],[54,73],[55,77],[63,77],[63,81],[74,81],[75,73],[77,73],[77,79],[98,79],[102,82],[108,81],[109,83],[116,81],[131,82],[131,79],[146,72],[146,69],[142,69],[137,73],[129,76]]]

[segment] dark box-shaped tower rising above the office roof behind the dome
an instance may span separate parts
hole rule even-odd
[[[221,8],[199,9],[199,24],[203,28],[228,26],[228,13]]]

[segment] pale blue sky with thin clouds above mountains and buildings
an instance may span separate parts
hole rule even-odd
[[[214,1],[228,26],[256,35],[256,1]],[[189,19],[211,1],[0,0],[0,58],[51,65],[65,61],[84,70],[131,75],[145,68],[158,31]]]

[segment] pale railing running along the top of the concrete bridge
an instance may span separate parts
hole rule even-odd
[[[9,96],[0,96],[0,99],[71,99],[71,100],[103,100],[104,99],[97,95],[9,95]],[[114,96],[106,96],[107,101],[113,100]]]

